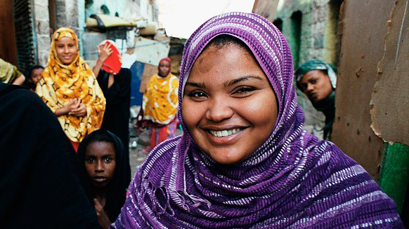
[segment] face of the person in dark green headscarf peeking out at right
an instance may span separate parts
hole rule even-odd
[[[332,92],[330,77],[320,70],[308,71],[302,76],[299,85],[312,103],[320,102]]]

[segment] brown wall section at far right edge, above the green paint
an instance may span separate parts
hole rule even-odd
[[[396,1],[384,56],[372,92],[372,130],[384,141],[409,145],[409,8],[408,0]]]

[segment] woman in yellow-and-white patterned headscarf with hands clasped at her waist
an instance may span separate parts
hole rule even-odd
[[[36,92],[56,113],[75,151],[86,134],[100,128],[105,97],[92,70],[79,57],[78,38],[72,29],[62,27],[54,32]]]

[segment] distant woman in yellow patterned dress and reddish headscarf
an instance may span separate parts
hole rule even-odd
[[[143,120],[139,120],[139,123],[150,127],[151,149],[176,136],[179,81],[170,69],[169,57],[160,60],[158,73],[150,77],[143,95]]]

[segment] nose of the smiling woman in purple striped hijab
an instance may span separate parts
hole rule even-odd
[[[206,118],[214,122],[221,122],[222,120],[231,118],[233,116],[232,102],[225,97],[217,97],[212,99],[209,108],[206,111]]]

